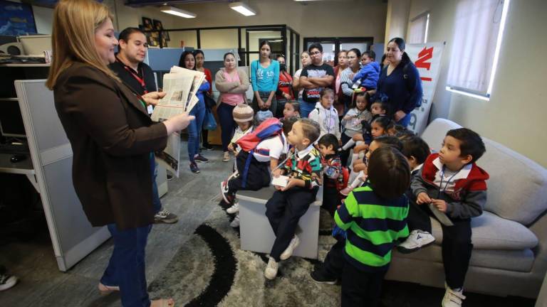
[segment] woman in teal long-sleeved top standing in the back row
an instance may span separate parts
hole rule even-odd
[[[262,41],[260,43],[260,59],[251,63],[251,85],[254,91],[252,107],[255,114],[261,109],[270,109],[273,114],[276,113],[279,62],[271,60],[270,54],[270,43]]]

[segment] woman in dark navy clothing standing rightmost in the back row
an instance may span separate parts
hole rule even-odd
[[[405,52],[402,38],[392,38],[387,43],[386,60],[390,65],[380,72],[375,97],[387,96],[393,119],[406,127],[410,122],[410,112],[422,101],[420,73]]]

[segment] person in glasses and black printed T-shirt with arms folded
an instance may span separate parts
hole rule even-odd
[[[300,86],[304,88],[302,94],[303,104],[300,106],[301,116],[308,117],[315,109],[316,102],[321,98],[324,87],[330,87],[334,80],[333,67],[323,62],[323,46],[313,43],[308,48],[311,56],[311,65],[302,69]]]

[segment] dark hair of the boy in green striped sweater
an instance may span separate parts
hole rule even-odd
[[[410,186],[408,161],[392,146],[381,146],[370,155],[367,172],[370,186],[380,198],[399,198]]]

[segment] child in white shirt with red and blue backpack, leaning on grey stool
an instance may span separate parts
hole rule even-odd
[[[283,131],[288,133],[291,129],[290,124],[281,124],[279,119],[266,119],[254,131],[236,141],[241,147],[236,156],[236,172],[220,185],[224,202],[232,205],[226,212],[239,212],[238,190],[260,190],[270,185],[270,170],[277,168],[279,157],[288,151]],[[230,226],[239,227],[239,215]]]

